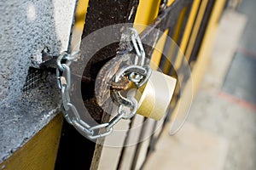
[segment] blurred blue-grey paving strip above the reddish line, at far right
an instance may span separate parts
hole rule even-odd
[[[224,92],[245,99],[254,105],[256,105],[256,80],[254,78],[256,72],[255,8],[255,0],[244,0],[238,8],[239,13],[246,14],[248,21],[222,88]]]

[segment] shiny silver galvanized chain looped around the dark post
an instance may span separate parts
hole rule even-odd
[[[131,41],[137,52],[137,59],[135,65],[126,67],[119,71],[115,76],[115,82],[119,82],[119,78],[128,76],[131,82],[134,82],[137,87],[142,86],[148,81],[148,77],[151,74],[151,69],[148,65],[144,66],[145,52],[143,44],[138,37],[137,31],[131,28]],[[84,122],[70,99],[70,87],[71,87],[71,70],[70,65],[73,61],[79,59],[79,53],[67,54],[63,52],[57,59],[56,77],[58,87],[61,89],[62,99],[62,113],[67,122],[83,132],[89,139],[98,139],[113,132],[113,126],[121,119],[131,119],[137,112],[137,100],[133,97],[123,97],[119,92],[114,94],[117,96],[116,100],[119,103],[118,114],[113,117],[109,122],[98,124],[96,126],[90,126]],[[130,109],[130,113],[126,114],[123,107],[126,106]],[[71,111],[69,111],[71,110]],[[69,112],[67,112],[69,111]],[[98,133],[96,133],[98,132]]]

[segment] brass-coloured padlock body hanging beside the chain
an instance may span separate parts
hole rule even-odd
[[[137,114],[160,120],[170,105],[177,80],[159,71],[152,71],[148,82],[137,89]]]

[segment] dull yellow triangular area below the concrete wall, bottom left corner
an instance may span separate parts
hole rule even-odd
[[[62,120],[62,114],[55,116],[32,139],[0,163],[0,169],[54,169]]]

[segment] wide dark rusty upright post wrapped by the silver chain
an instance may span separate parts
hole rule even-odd
[[[121,1],[107,1],[107,0],[90,0],[87,8],[87,14],[84,24],[83,38],[90,35],[91,32],[101,29],[104,26],[109,26],[118,23],[133,23],[135,14],[137,12],[138,0],[121,0]],[[90,59],[91,49],[95,48],[96,41],[90,40],[81,44],[81,62],[77,65],[78,71],[73,71],[74,75],[79,77],[79,70],[84,68],[84,75],[82,78],[82,94],[84,105],[87,109],[91,109],[91,116],[98,122],[108,121],[108,116],[103,116],[104,112],[99,105],[96,105],[96,98],[94,93],[95,81],[98,72],[102,66],[112,59],[119,50],[119,39],[121,31],[112,32],[111,38],[115,38],[117,43],[108,45],[99,50]],[[82,40],[83,42],[83,40]],[[84,48],[85,47],[85,48]],[[90,159],[94,154],[95,144],[87,139],[81,139],[82,135],[76,133],[71,125],[64,122],[62,129],[63,135],[61,136],[60,149],[56,161],[56,169],[71,168],[90,168]],[[69,137],[72,136],[73,139]],[[67,145],[72,145],[73,150],[68,150]],[[96,147],[100,147],[96,145]],[[101,149],[98,149],[100,152]],[[79,152],[79,156],[76,156]],[[72,155],[72,157],[71,157]],[[83,155],[83,156],[81,156]],[[97,155],[97,154],[96,154]],[[95,155],[95,156],[96,156]],[[100,154],[98,154],[100,156]],[[84,161],[88,159],[89,161]],[[99,157],[96,157],[91,163],[92,169],[97,169],[97,162]]]

